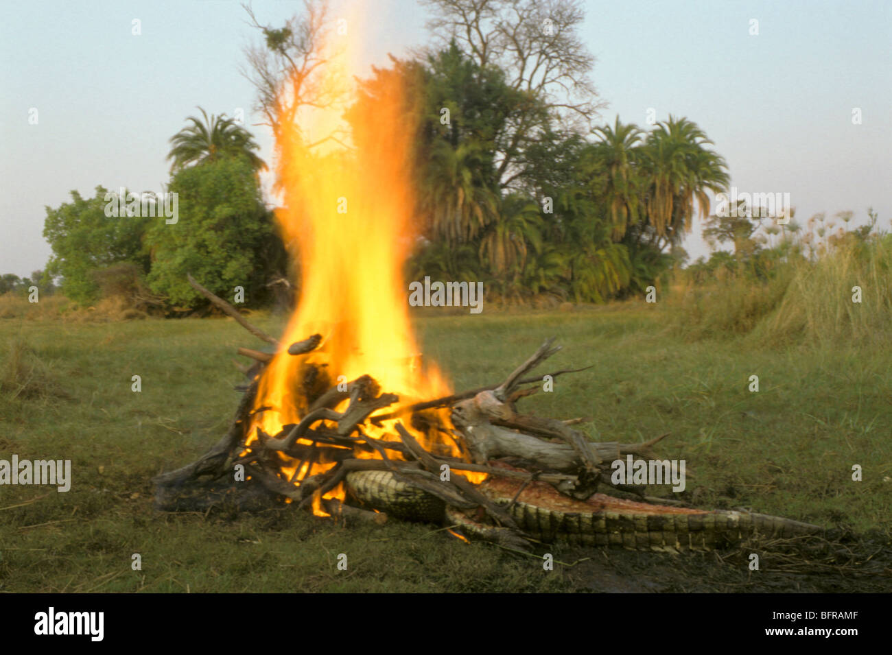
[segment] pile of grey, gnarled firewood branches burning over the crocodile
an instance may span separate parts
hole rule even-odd
[[[191,276],[190,282],[252,334],[278,345],[277,340],[252,326],[235,308],[194,282]],[[279,356],[304,356],[318,348],[321,341],[318,334],[311,335],[292,344],[287,355]],[[649,457],[651,446],[665,435],[640,444],[594,443],[571,427],[584,419],[559,421],[518,412],[517,402],[541,389],[544,376],[530,373],[558,352],[560,347],[553,346],[552,342],[542,344],[498,384],[392,411],[387,408],[398,403],[399,398],[382,392],[368,375],[346,385],[329,386],[324,383],[328,380],[326,374],[312,365],[296,367],[305,379],[294,383],[300,385],[307,409],[300,422],[285,425],[276,435],[252,428],[253,414],[268,409],[254,408],[254,405],[259,382],[273,355],[240,348],[240,353],[256,361],[246,371],[249,382],[227,434],[194,463],[158,476],[154,480],[156,505],[165,511],[195,511],[232,502],[239,508],[252,509],[288,499],[286,502],[298,508],[309,509],[317,504],[335,517],[380,523],[387,520],[383,512],[322,497],[343,484],[351,471],[369,470],[391,471],[396,479],[441,498],[451,507],[481,509],[493,523],[508,530],[517,527],[506,508],[483,495],[462,471],[516,479],[521,484],[518,495],[535,479],[548,482],[559,492],[577,499],[590,497],[598,487],[608,487],[620,495],[632,494],[652,503],[676,504],[645,495],[643,487],[615,485],[607,475],[610,463],[626,454]],[[555,371],[548,375],[553,380],[564,373],[582,370]],[[349,401],[346,408],[335,410],[345,400]],[[380,435],[385,425],[394,430],[388,438],[370,436],[369,432]],[[445,444],[447,439],[451,440],[462,456],[448,454],[455,451],[445,447],[432,446],[431,451],[425,450],[406,425],[416,433],[442,436],[432,443]],[[376,430],[371,430],[372,426]],[[523,470],[490,465],[491,461],[500,459]],[[295,461],[298,464],[293,476],[286,478],[283,470],[292,469]],[[310,471],[316,463],[334,465],[323,473],[297,479],[300,471]],[[244,467],[241,477],[234,474],[238,464]],[[444,467],[448,467],[450,475],[442,476]]]

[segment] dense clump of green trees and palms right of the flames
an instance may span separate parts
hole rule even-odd
[[[409,271],[481,279],[506,298],[589,302],[642,292],[664,275],[693,212],[708,212],[707,192],[728,182],[706,135],[688,119],[670,117],[649,135],[616,119],[592,140],[558,119],[553,96],[507,81],[512,71],[482,64],[483,51],[462,52],[457,42],[469,43],[456,38],[424,62],[376,70],[354,106],[373,111],[390,75],[412,89],[406,125],[416,130],[425,239]],[[514,140],[518,130],[524,136]]]

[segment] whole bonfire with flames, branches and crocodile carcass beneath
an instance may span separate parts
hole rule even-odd
[[[595,443],[574,428],[581,418],[521,413],[524,397],[572,373],[533,373],[558,351],[553,340],[507,363],[506,377],[488,387],[450,388],[419,354],[410,322],[402,271],[417,239],[413,130],[407,94],[388,84],[368,99],[374,111],[354,113],[349,125],[332,106],[293,113],[277,132],[277,220],[300,270],[281,339],[190,276],[274,352],[240,349],[256,361],[230,429],[198,461],[155,480],[157,505],[285,503],[339,520],[427,520],[517,549],[566,539],[677,551],[753,531],[817,530],[615,483],[613,462],[652,459],[663,436]],[[346,149],[324,137],[335,131],[349,136]]]

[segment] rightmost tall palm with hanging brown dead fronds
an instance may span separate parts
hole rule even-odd
[[[642,149],[648,172],[648,222],[660,246],[679,242],[690,231],[695,201],[700,217],[709,215],[707,192],[721,192],[729,182],[725,160],[706,146],[713,142],[688,119],[660,123]]]

